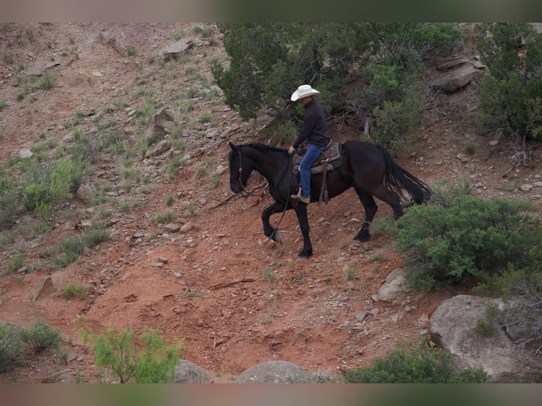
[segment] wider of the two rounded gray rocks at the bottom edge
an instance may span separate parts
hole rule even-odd
[[[234,383],[302,383],[309,382],[308,372],[289,361],[266,361],[251,366]]]

